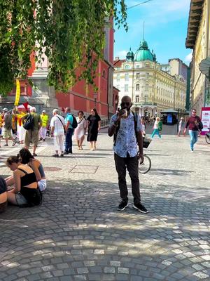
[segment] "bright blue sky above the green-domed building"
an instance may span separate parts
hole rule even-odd
[[[145,0],[125,0],[127,7]],[[127,10],[129,30],[116,28],[114,57],[125,58],[130,47],[137,51],[143,39],[143,22],[145,22],[144,39],[148,47],[154,50],[159,63],[167,63],[169,58],[180,58],[190,62],[191,50],[186,49],[185,42],[188,28],[190,0],[152,0],[146,4]]]

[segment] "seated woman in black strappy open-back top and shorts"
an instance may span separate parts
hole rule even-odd
[[[8,157],[6,165],[13,171],[14,181],[14,188],[7,192],[8,202],[19,207],[41,204],[42,194],[31,167],[20,163],[20,158],[17,156]]]

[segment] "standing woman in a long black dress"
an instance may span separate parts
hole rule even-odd
[[[90,150],[96,150],[97,136],[101,129],[101,117],[95,108],[92,108],[91,115],[87,117],[87,141],[90,142]]]

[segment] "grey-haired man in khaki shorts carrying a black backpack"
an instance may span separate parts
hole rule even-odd
[[[37,156],[36,148],[38,145],[38,137],[39,137],[38,133],[39,133],[39,129],[41,128],[42,122],[41,122],[40,115],[38,115],[36,113],[36,107],[30,107],[30,113],[27,115],[24,115],[21,119],[23,123],[24,123],[24,120],[26,120],[29,115],[32,115],[34,122],[32,125],[32,129],[26,130],[25,148],[29,149],[30,142],[31,142],[34,145],[33,146],[33,156]]]

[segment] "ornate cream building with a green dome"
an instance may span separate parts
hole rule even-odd
[[[120,90],[119,100],[130,96],[133,110],[140,115],[160,115],[169,108],[185,110],[186,81],[162,71],[146,41],[141,41],[135,54],[130,50],[125,60],[116,58],[114,67],[113,85]]]

